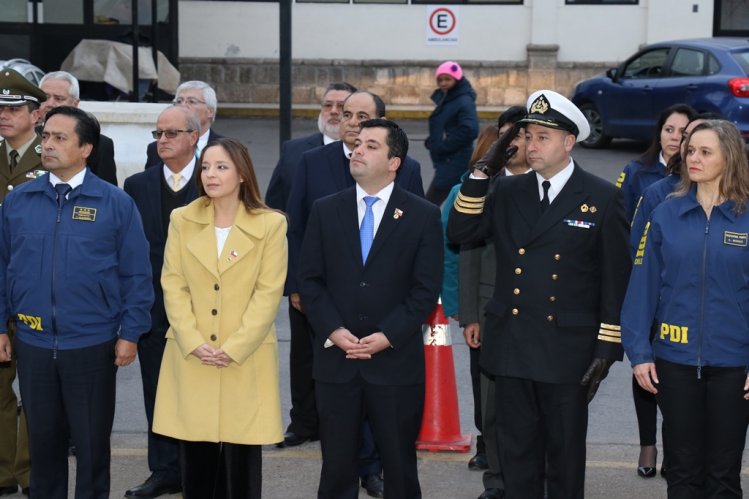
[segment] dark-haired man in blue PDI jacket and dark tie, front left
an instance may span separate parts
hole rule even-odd
[[[0,362],[18,362],[33,460],[31,495],[108,498],[117,368],[135,360],[153,302],[148,242],[133,200],[91,174],[99,124],[67,106],[47,115],[42,165],[0,208]]]

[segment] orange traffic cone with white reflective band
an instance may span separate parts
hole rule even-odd
[[[437,303],[422,331],[426,360],[426,393],[424,416],[416,439],[416,448],[468,452],[471,448],[471,434],[460,433],[450,323],[445,317],[441,303]]]

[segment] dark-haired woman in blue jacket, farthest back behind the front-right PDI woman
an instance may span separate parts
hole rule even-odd
[[[624,194],[624,210],[630,222],[645,188],[668,175],[666,165],[679,153],[684,129],[695,114],[695,110],[686,104],[674,104],[664,109],[658,116],[655,137],[648,150],[627,163],[619,174],[616,186]]]

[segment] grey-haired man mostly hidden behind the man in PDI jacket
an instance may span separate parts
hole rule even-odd
[[[47,73],[39,82],[39,88],[47,95],[47,100],[42,104],[42,117],[46,116],[50,109],[59,106],[78,107],[81,102],[78,79],[67,71]],[[42,125],[39,125],[37,132],[41,131]],[[99,145],[96,146],[94,155],[89,158],[88,167],[100,179],[117,185],[117,165],[114,162],[112,139],[100,134]]]

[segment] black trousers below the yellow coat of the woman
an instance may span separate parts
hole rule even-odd
[[[260,499],[260,445],[180,440],[184,499]]]

